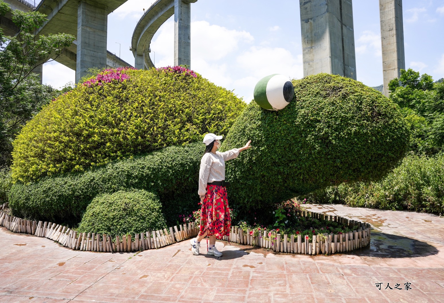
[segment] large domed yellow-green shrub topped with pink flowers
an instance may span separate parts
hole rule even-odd
[[[188,70],[108,69],[28,122],[13,143],[12,177],[37,181],[226,134],[244,107]]]

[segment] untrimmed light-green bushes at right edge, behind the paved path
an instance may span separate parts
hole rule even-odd
[[[384,179],[327,187],[307,195],[313,203],[444,213],[444,154],[409,154]]]

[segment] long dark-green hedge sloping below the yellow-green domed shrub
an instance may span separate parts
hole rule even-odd
[[[145,189],[158,194],[166,218],[175,223],[181,208],[195,210],[199,165],[205,145],[194,142],[169,146],[141,156],[114,161],[84,173],[45,177],[38,182],[16,182],[9,194],[16,216],[78,223],[93,198],[119,190]],[[184,197],[184,198],[181,198]],[[180,207],[174,205],[182,203]],[[182,212],[183,213],[183,212]]]

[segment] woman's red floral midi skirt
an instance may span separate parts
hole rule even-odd
[[[215,236],[217,239],[230,235],[231,217],[225,186],[206,185],[200,215],[199,236],[205,234],[207,230],[210,236]]]

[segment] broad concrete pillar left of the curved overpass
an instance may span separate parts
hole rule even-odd
[[[107,66],[108,12],[97,1],[80,0],[77,10],[77,62],[75,82],[88,68]]]

